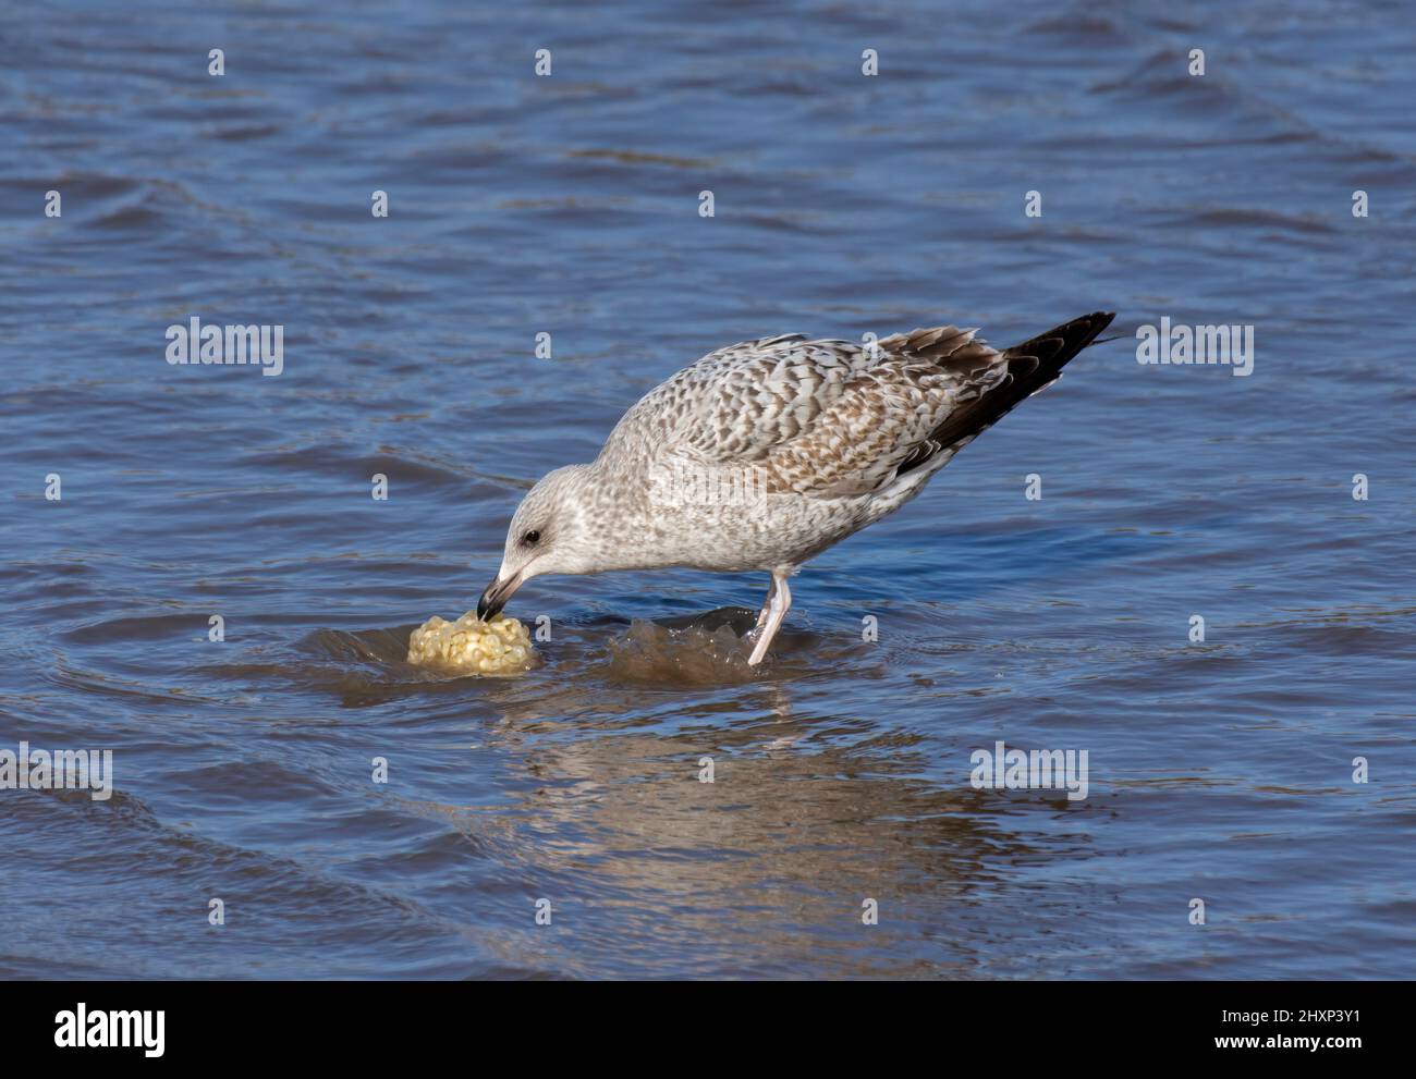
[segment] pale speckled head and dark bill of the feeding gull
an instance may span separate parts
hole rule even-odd
[[[613,537],[599,511],[599,494],[588,464],[547,473],[527,491],[507,528],[497,579],[477,602],[477,617],[496,617],[511,593],[534,576],[595,573],[606,568],[603,552]]]

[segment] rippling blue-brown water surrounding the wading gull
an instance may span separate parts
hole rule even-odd
[[[115,792],[0,790],[0,976],[1413,974],[1408,8],[68,7],[0,30],[0,749]],[[709,348],[1099,307],[766,668],[704,629],[766,581],[687,572],[402,663]],[[169,365],[194,314],[283,374]],[[1161,316],[1255,372],[1138,365]],[[976,789],[1000,739],[1087,797]]]

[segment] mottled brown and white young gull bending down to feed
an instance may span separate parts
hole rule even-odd
[[[783,334],[708,353],[640,398],[593,462],[527,493],[477,616],[542,573],[762,571],[756,666],[803,562],[919,494],[1113,317],[1085,314],[1001,353],[953,326],[874,347]]]

